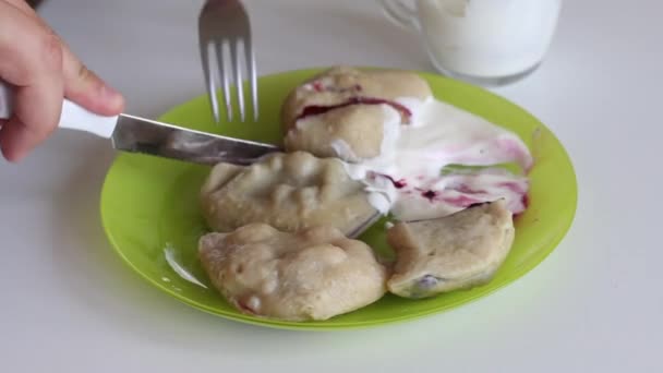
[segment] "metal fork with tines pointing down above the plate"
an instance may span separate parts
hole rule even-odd
[[[217,101],[217,83],[210,73],[210,58],[215,58],[218,67],[218,77],[221,82],[222,97],[226,104],[226,117],[232,121],[232,104],[230,84],[234,71],[237,103],[240,119],[244,122],[244,88],[242,79],[242,51],[244,64],[249,73],[253,120],[257,121],[257,82],[255,55],[251,43],[251,24],[249,15],[239,0],[207,0],[198,17],[198,43],[201,61],[205,74],[205,83],[214,119],[219,122],[219,104]],[[210,57],[212,56],[212,57]]]

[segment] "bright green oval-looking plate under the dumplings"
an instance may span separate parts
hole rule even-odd
[[[317,72],[312,69],[261,77],[260,123],[214,124],[206,96],[171,109],[160,120],[236,137],[279,142],[281,101],[290,89]],[[490,284],[426,300],[387,294],[364,309],[324,322],[281,322],[242,314],[212,288],[196,258],[196,242],[205,232],[197,195],[208,168],[133,154],[118,156],[104,184],[101,217],[112,246],[150,284],[186,304],[239,322],[290,329],[338,329],[411,320],[450,310],[516,280],[550,254],[571,225],[577,185],[569,157],[549,129],[506,99],[439,75],[421,76],[437,98],[518,133],[535,158],[530,173],[530,206],[517,217],[511,252]],[[383,225],[374,226],[361,239],[389,252]],[[167,250],[206,288],[179,276],[166,258]]]

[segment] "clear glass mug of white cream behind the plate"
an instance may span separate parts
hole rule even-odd
[[[562,0],[381,0],[387,16],[421,35],[445,75],[495,86],[531,74],[549,49]]]

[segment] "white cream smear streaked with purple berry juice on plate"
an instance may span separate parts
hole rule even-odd
[[[505,198],[518,214],[527,207],[527,177],[503,168],[443,173],[449,165],[495,166],[515,163],[532,167],[528,147],[515,133],[485,119],[434,99],[399,98],[412,113],[401,124],[400,113],[382,105],[385,113],[381,155],[360,163],[346,163],[351,178],[366,185],[369,201],[398,220],[446,216],[482,202]],[[341,142],[334,148],[352,158]]]

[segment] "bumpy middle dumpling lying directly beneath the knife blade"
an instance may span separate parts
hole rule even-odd
[[[201,200],[208,226],[221,232],[265,222],[291,232],[329,226],[351,236],[376,214],[364,185],[350,179],[340,160],[303,152],[274,154],[248,167],[219,164]]]

